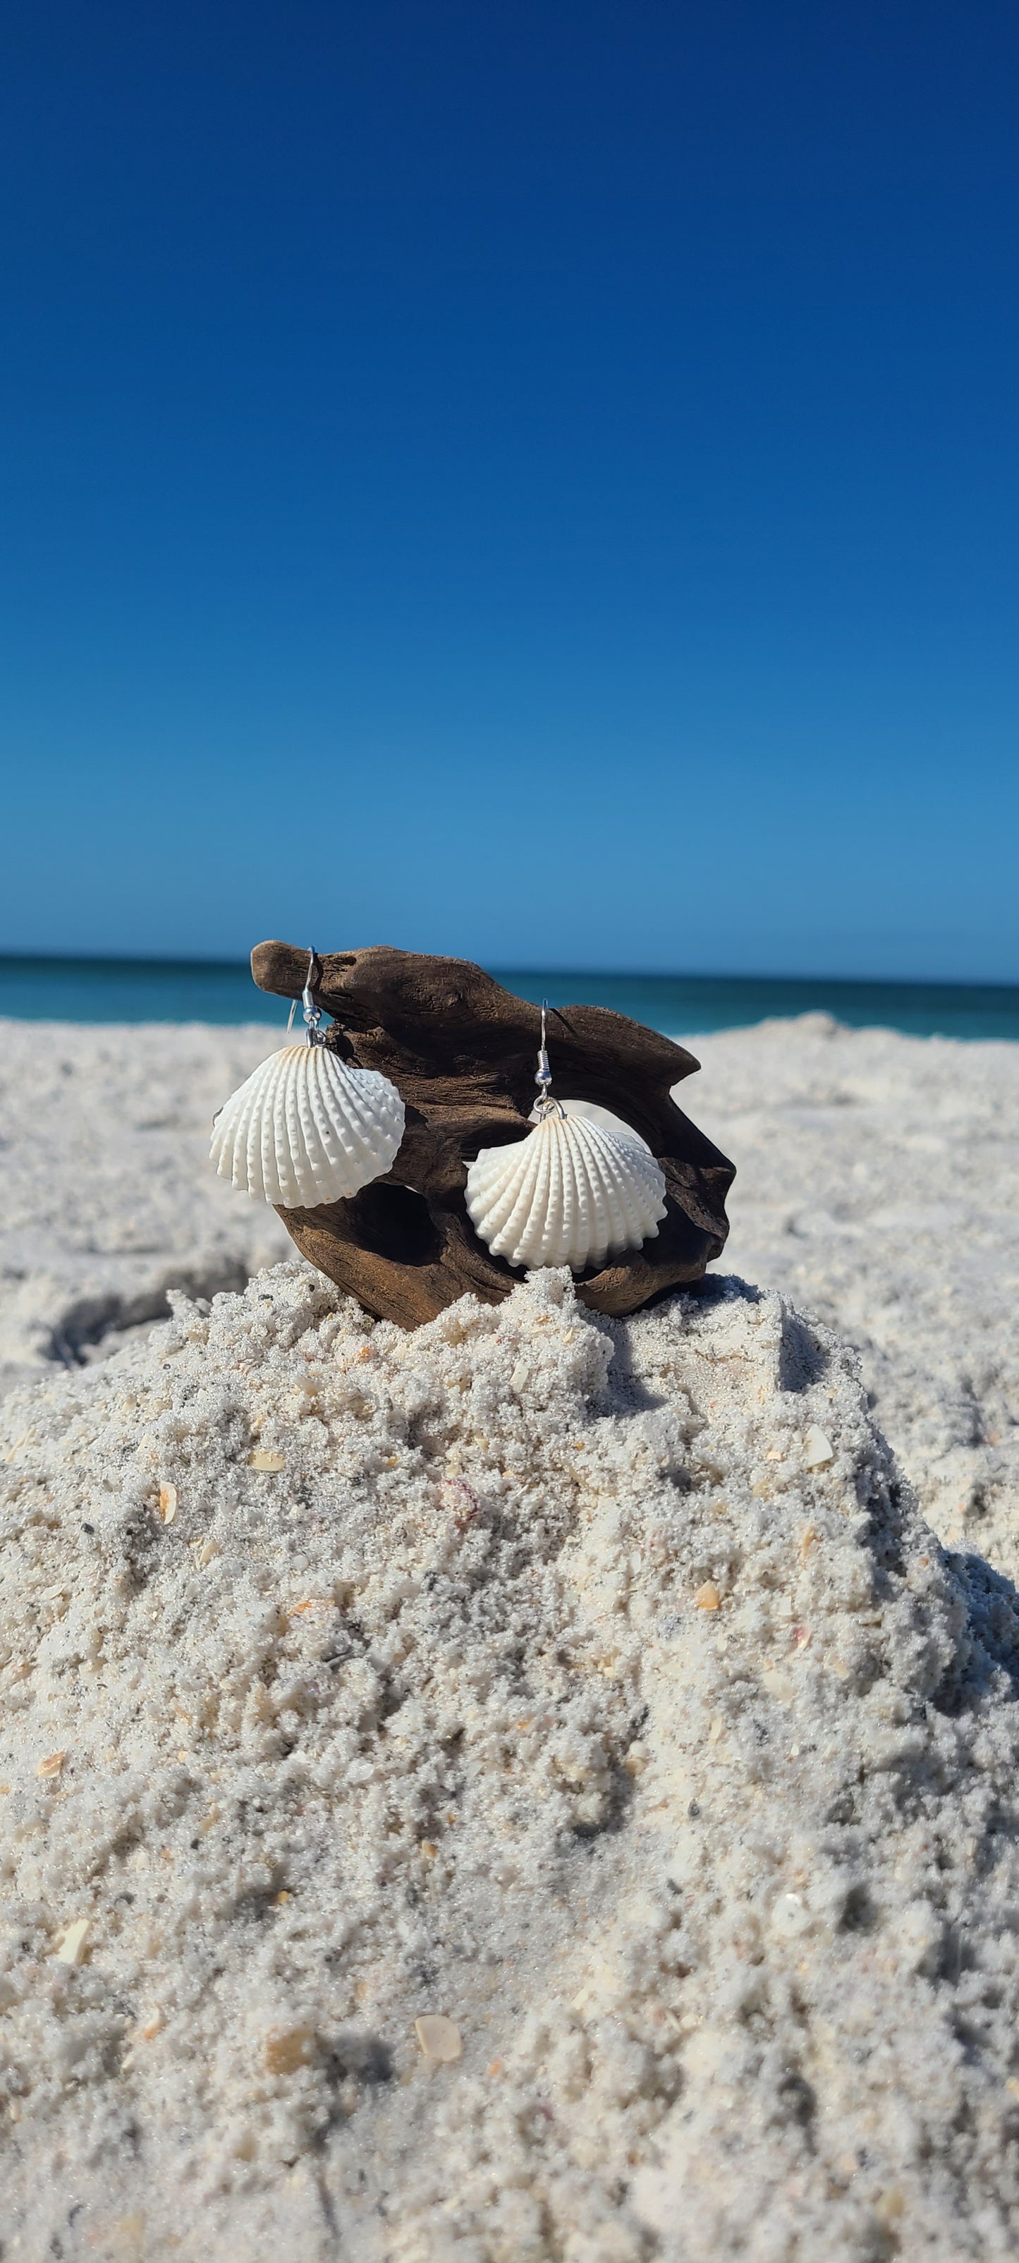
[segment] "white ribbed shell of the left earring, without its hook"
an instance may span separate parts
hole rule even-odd
[[[283,1046],[220,1109],[211,1154],[247,1195],[312,1211],[389,1170],[403,1120],[389,1077],[328,1046]]]

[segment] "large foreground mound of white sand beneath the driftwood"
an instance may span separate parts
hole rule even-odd
[[[845,1346],[281,1265],[5,1432],[5,2256],[1017,2252],[1019,1620]]]

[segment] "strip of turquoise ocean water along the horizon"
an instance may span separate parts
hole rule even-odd
[[[491,973],[521,998],[611,1005],[666,1036],[740,1030],[786,1014],[833,1014],[851,1027],[910,1036],[1019,1039],[1019,989],[967,982],[827,982],[770,975],[611,975],[562,969]],[[0,1016],[18,1021],[265,1021],[288,1005],[251,982],[247,964],[204,960],[0,957]]]

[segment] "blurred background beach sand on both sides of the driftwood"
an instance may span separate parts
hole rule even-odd
[[[677,1098],[738,1170],[716,1272],[858,1346],[924,1514],[1014,1573],[1019,1046],[820,1014],[691,1046]],[[0,1023],[0,1389],[106,1358],[168,1285],[211,1297],[292,1258],[208,1168],[213,1111],[267,1050],[258,1025]]]

